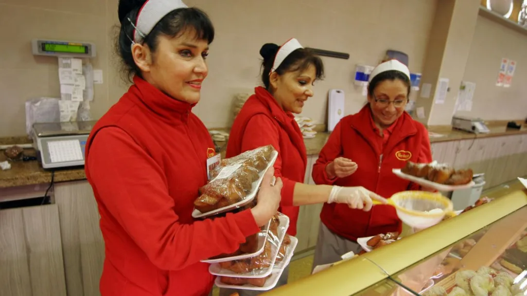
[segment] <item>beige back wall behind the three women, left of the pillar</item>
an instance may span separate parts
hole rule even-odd
[[[25,133],[24,102],[57,97],[57,61],[33,56],[32,38],[93,42],[94,68],[104,72],[95,85],[94,117],[115,103],[126,86],[113,56],[112,26],[118,0],[0,0],[0,27],[11,46],[0,47],[0,137]],[[388,49],[406,52],[413,72],[422,70],[436,0],[187,0],[209,13],[216,27],[209,77],[194,112],[209,127],[227,126],[233,94],[259,84],[258,54],[266,42],[296,37],[304,46],[350,54],[349,60],[324,58],[326,79],[316,84],[304,115],[325,123],[327,92],[346,93],[346,113],[365,102],[353,86],[357,63],[376,65]],[[16,28],[16,29],[15,29]]]

